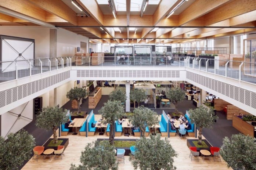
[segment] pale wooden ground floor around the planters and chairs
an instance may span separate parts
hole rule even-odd
[[[81,151],[83,151],[84,147],[87,143],[97,140],[97,138],[108,138],[106,135],[94,135],[94,137],[84,137],[80,135],[72,135],[68,134],[64,136],[64,138],[69,138],[69,145],[65,149],[63,156],[63,160],[56,159],[54,157],[49,159],[49,157],[39,156],[38,162],[36,160],[32,160],[32,158],[28,161],[28,163],[22,168],[22,170],[69,170],[70,164],[79,164],[79,159],[81,155]],[[115,138],[138,138],[138,137],[115,137]],[[164,139],[164,138],[163,138]],[[174,150],[178,152],[178,157],[174,158],[174,165],[177,167],[177,170],[227,170],[227,164],[221,158],[221,162],[219,160],[213,159],[213,157],[205,158],[205,161],[201,157],[199,160],[193,159],[192,161],[189,158],[190,150],[187,147],[186,139],[181,139],[178,135],[175,137],[168,138],[170,144],[172,144]],[[194,139],[193,137],[187,137],[187,139]],[[133,166],[129,162],[129,156],[125,156],[125,164],[119,164],[119,170],[132,170]],[[231,168],[230,168],[231,169]]]

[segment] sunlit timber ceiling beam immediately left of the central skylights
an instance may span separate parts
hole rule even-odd
[[[96,1],[76,0],[100,25],[104,25],[104,15]],[[112,15],[113,17],[113,15]],[[113,17],[114,18],[114,17]]]

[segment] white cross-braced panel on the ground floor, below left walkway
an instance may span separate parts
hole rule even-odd
[[[10,112],[13,112],[16,114],[21,113],[21,117],[18,118],[18,115],[15,115]],[[17,108],[10,110],[10,112],[6,112],[1,115],[1,136],[2,137],[5,137],[9,130],[12,133],[16,133],[17,131],[22,129],[24,126],[26,126],[33,120],[33,100],[30,100],[28,103],[24,103],[18,106]],[[28,117],[29,119],[25,117]],[[17,122],[14,123],[16,120]],[[14,126],[12,127],[12,125]]]

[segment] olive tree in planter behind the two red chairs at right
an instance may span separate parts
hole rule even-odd
[[[199,108],[190,109],[188,112],[190,113],[191,123],[195,123],[199,127],[198,144],[201,145],[203,128],[212,129],[215,120],[219,117],[214,115],[212,108],[206,108],[202,105]]]

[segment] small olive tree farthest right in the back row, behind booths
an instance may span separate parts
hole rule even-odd
[[[179,114],[179,111],[177,109],[178,107],[178,102],[181,102],[185,99],[185,94],[184,91],[180,88],[180,87],[176,87],[176,88],[170,88],[167,92],[166,92],[166,97],[171,100],[174,101],[174,106],[175,106],[175,113]]]

